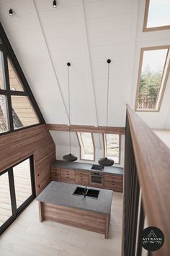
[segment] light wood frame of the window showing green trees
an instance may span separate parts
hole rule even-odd
[[[162,77],[161,77],[161,85],[160,85],[160,88],[159,88],[159,91],[158,91],[157,99],[159,98],[159,102],[157,103],[157,100],[156,100],[157,108],[153,108],[153,109],[152,108],[148,108],[148,109],[147,108],[146,109],[138,108],[138,93],[139,93],[139,88],[140,88],[140,77],[141,77],[141,72],[142,72],[142,67],[143,67],[143,54],[144,54],[144,51],[154,51],[154,50],[161,50],[161,49],[167,49],[168,51],[167,51],[166,59],[165,59],[165,62],[164,62],[164,69],[163,69]],[[170,51],[170,45],[169,46],[144,47],[144,48],[140,49],[140,61],[139,61],[139,69],[138,69],[138,82],[137,82],[137,89],[136,89],[136,95],[135,95],[135,111],[136,112],[159,112],[160,111],[161,103],[162,103],[162,100],[163,100],[163,97],[164,97],[164,91],[166,89],[166,83],[167,83],[167,80],[169,78],[170,60],[169,60],[169,63],[167,64],[166,74],[164,76],[165,67],[166,67],[166,61],[167,61],[167,57],[169,55],[169,51]],[[162,85],[163,77],[164,77],[164,84]],[[159,95],[160,91],[161,91],[161,95]]]

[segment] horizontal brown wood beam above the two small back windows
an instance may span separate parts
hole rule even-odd
[[[50,131],[69,131],[67,124],[46,124],[46,128]],[[71,132],[91,132],[91,133],[115,133],[125,135],[125,127],[93,127],[90,125],[71,125]]]

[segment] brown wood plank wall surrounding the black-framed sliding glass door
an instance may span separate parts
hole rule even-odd
[[[0,136],[0,172],[33,155],[36,195],[50,178],[50,163],[55,161],[55,144],[45,124]]]

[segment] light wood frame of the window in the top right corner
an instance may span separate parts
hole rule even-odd
[[[170,25],[160,26],[160,27],[147,27],[148,23],[148,11],[149,11],[150,0],[146,0],[144,21],[143,21],[143,32],[151,32],[156,30],[169,30]]]

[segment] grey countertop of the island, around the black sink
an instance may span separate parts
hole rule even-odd
[[[37,200],[41,202],[48,202],[53,205],[61,205],[80,210],[90,210],[94,213],[110,213],[113,195],[112,190],[87,187],[99,190],[98,198],[94,199],[73,195],[76,187],[84,186],[63,182],[50,182],[40,195],[37,196]]]

